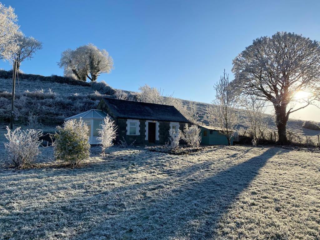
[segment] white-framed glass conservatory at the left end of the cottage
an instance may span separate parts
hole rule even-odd
[[[91,109],[89,111],[79,113],[75,116],[71,116],[65,119],[65,121],[71,119],[82,119],[89,127],[89,141],[90,144],[99,144],[100,142],[97,140],[99,137],[98,129],[100,129],[100,124],[102,124],[103,119],[107,116],[105,112],[98,109]]]

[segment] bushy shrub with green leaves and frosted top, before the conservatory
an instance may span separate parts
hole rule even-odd
[[[57,127],[54,134],[54,156],[57,160],[69,163],[72,167],[81,165],[89,157],[89,129],[83,120],[69,120],[63,127]]]

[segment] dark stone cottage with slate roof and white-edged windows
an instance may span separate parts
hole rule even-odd
[[[190,122],[173,106],[103,98],[97,107],[113,118],[117,139],[130,144],[168,142],[169,130],[183,130]]]

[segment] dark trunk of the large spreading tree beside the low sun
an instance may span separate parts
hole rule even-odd
[[[288,144],[287,140],[287,132],[286,132],[286,125],[288,122],[289,116],[287,116],[286,112],[287,106],[285,104],[281,106],[276,106],[276,126],[278,129],[278,141],[277,144],[286,145]]]

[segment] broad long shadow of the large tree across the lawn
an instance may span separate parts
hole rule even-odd
[[[215,226],[220,217],[279,150],[269,148],[260,156],[205,178],[203,172],[198,171],[187,176],[182,186],[171,189],[165,195],[149,196],[142,208],[134,212],[124,210],[116,221],[109,219],[101,222],[97,228],[92,228],[80,238],[100,235],[103,229],[108,232],[103,235],[105,237],[122,231],[120,236],[124,236],[123,239],[181,239],[184,236],[188,236],[188,239],[214,239]],[[195,172],[194,166],[191,168]]]

